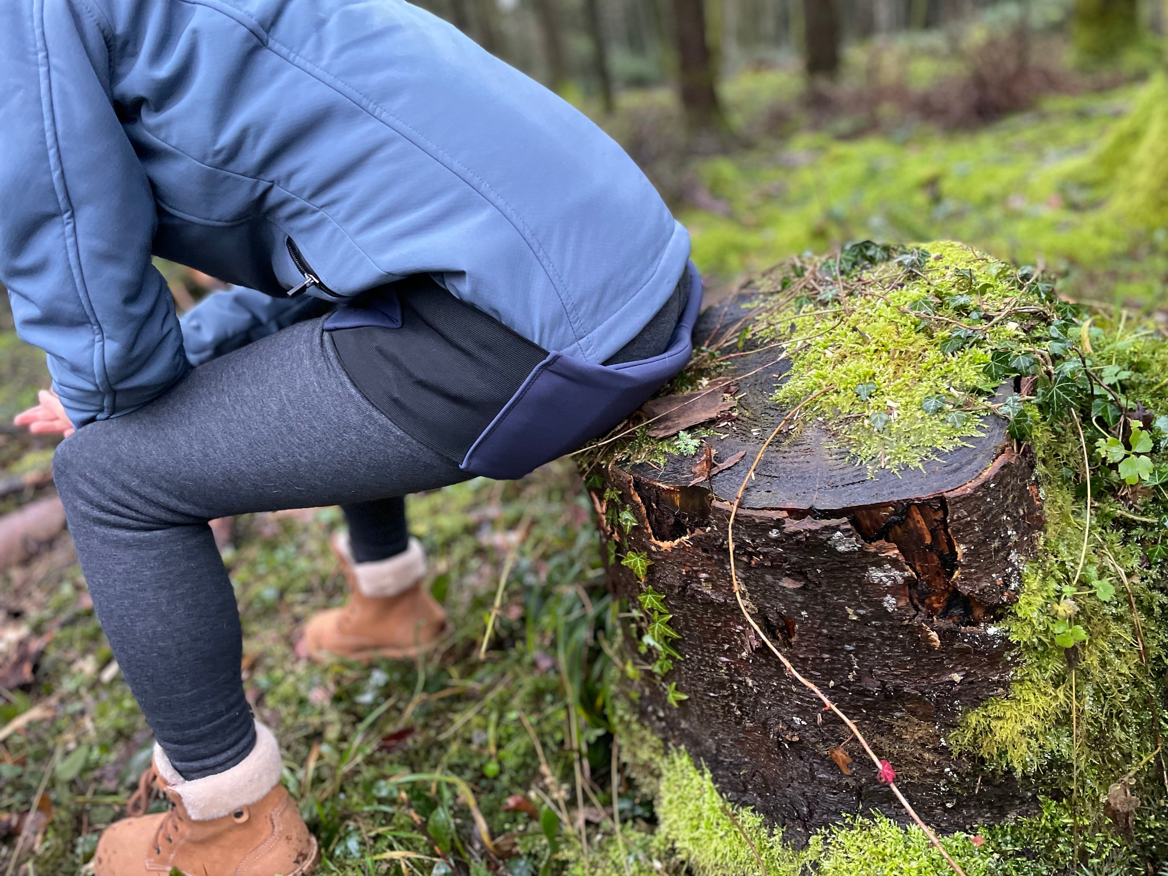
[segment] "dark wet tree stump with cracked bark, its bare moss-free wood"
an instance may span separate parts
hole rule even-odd
[[[695,343],[749,318],[751,294],[708,310]],[[790,364],[773,349],[734,362],[738,418],[705,442],[715,463],[741,463],[694,484],[701,457],[669,457],[604,472],[604,492],[635,515],[620,550],[652,561],[640,582],[611,564],[616,593],[663,595],[681,655],[665,676],[688,698],[667,701],[645,658],[633,682],[641,719],[704,763],[722,794],[751,806],[791,839],[877,809],[904,811],[855,739],[786,675],[735,599],[726,527],[735,495],[785,411],[769,401]],[[719,378],[719,381],[723,378]],[[1016,598],[1042,527],[1034,458],[989,417],[985,437],[924,470],[874,477],[849,461],[814,422],[777,439],[748,484],[735,521],[736,564],[758,624],[806,677],[853,718],[897,785],[938,830],[968,829],[1033,809],[1011,778],[981,774],[945,736],[964,711],[1004,694],[1010,644],[995,626]],[[606,533],[612,538],[611,529]],[[635,605],[635,599],[631,600]],[[639,634],[630,630],[626,640]],[[843,767],[829,750],[848,752]],[[850,772],[850,774],[846,774]]]

